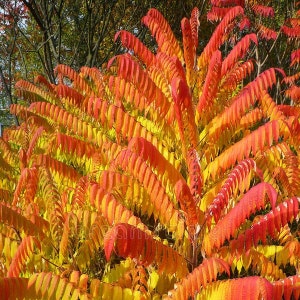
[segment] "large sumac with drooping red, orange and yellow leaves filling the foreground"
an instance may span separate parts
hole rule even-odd
[[[260,43],[231,38],[244,9],[200,55],[198,17],[179,42],[150,9],[155,53],[121,31],[128,53],[104,72],[18,82],[23,122],[0,140],[6,298],[299,298],[297,74],[243,84]],[[293,106],[270,95],[282,80]]]

